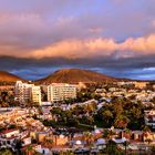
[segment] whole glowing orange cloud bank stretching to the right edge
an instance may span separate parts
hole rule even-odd
[[[155,54],[155,34],[142,38],[130,38],[124,42],[115,42],[113,39],[68,40],[54,43],[40,50],[28,52],[32,58],[134,58]]]

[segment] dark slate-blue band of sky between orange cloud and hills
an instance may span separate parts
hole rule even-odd
[[[155,55],[140,59],[111,58],[68,60],[0,58],[0,70],[7,70],[24,79],[37,80],[62,68],[80,68],[97,71],[107,75],[130,79],[154,79]]]

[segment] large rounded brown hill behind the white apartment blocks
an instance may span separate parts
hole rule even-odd
[[[118,81],[115,78],[107,76],[105,74],[96,73],[89,70],[81,69],[62,69],[55,71],[49,76],[35,81],[37,83],[102,83],[102,82],[115,82]]]

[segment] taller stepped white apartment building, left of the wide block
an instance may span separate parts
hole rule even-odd
[[[41,104],[40,86],[17,81],[14,86],[16,100],[20,103],[34,102]]]

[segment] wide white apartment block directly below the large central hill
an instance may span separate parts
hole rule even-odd
[[[53,83],[48,86],[48,101],[59,102],[76,97],[76,85],[66,83]]]

